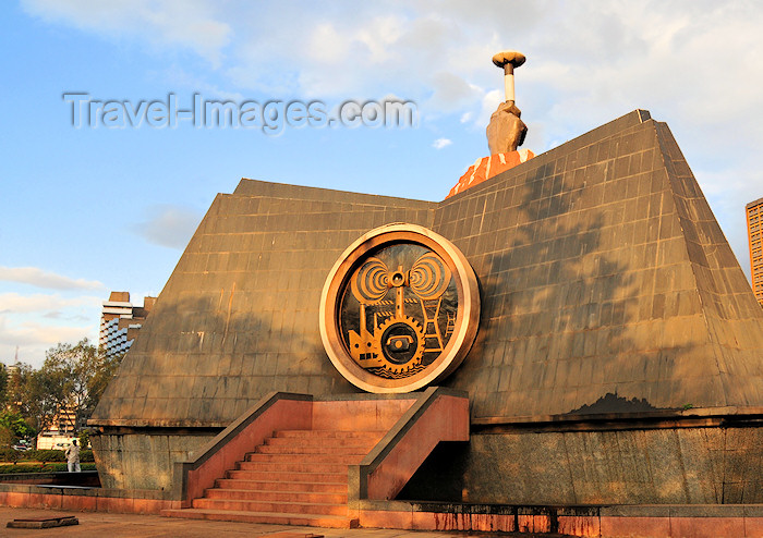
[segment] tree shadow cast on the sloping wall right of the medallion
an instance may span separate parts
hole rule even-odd
[[[470,256],[482,322],[452,384],[472,393],[473,418],[585,412],[619,383],[634,391],[644,381],[634,368],[653,359],[627,326],[638,321],[637,270],[654,267],[656,250],[620,235],[627,201],[603,205],[614,164],[585,174],[553,167],[479,194],[477,208],[496,196],[512,203],[485,232],[497,236],[495,252]]]

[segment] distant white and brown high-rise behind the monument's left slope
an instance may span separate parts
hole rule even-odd
[[[156,297],[144,297],[143,306],[134,306],[130,292],[111,292],[109,299],[104,301],[98,345],[107,357],[121,355],[130,349],[155,301]]]

